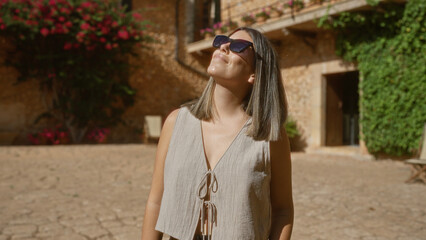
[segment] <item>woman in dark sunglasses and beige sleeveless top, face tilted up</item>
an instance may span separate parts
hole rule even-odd
[[[202,96],[158,143],[142,240],[290,239],[291,161],[276,53],[257,30],[218,35]]]

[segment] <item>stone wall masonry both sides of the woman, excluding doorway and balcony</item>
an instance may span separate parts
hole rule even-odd
[[[226,19],[229,14],[227,11],[231,9],[227,8],[227,2],[222,1],[222,19]],[[244,11],[261,8],[276,1],[229,2],[232,6],[231,14],[238,20]],[[135,67],[130,80],[132,86],[137,89],[136,102],[124,115],[127,125],[112,129],[108,141],[140,142],[144,115],[161,115],[164,120],[173,109],[201,94],[207,82],[203,73],[206,72],[210,56],[188,54],[185,49],[187,41],[191,39],[191,31],[197,31],[192,30],[193,22],[187,21],[186,14],[196,15],[188,12],[188,9],[194,4],[196,11],[199,1],[181,0],[179,3],[180,41],[176,49],[176,1],[133,0],[133,8],[145,9],[144,18],[154,23],[147,34],[157,41],[149,44],[149,48],[139,49],[139,58],[131,59]],[[303,38],[304,36],[288,33],[273,42],[282,66],[289,115],[297,121],[303,134],[298,143],[299,149],[318,142],[314,132],[320,128],[316,125],[321,116],[312,109],[317,101],[313,96],[316,96],[315,89],[322,74],[340,71],[336,70],[338,67],[331,67],[327,71],[323,71],[325,68],[321,67],[321,64],[327,62],[340,61],[334,54],[333,35],[318,32],[314,38],[308,39],[308,43]],[[4,44],[0,43],[1,46]],[[176,60],[176,52],[181,63]],[[17,76],[13,69],[0,68],[0,144],[28,144],[26,135],[34,130],[33,121],[44,111],[43,96],[38,91],[37,83],[34,81],[15,85]]]

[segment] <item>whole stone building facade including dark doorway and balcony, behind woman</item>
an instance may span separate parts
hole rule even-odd
[[[207,83],[206,68],[212,39],[203,39],[200,29],[214,21],[232,20],[242,25],[244,14],[284,4],[273,0],[133,0],[133,9],[145,9],[144,18],[153,23],[149,34],[158,41],[141,49],[132,59],[138,66],[131,83],[138,90],[135,105],[124,119],[128,126],[113,129],[110,141],[137,142],[135,129],[144,115],[163,119],[182,103],[196,98]],[[280,58],[289,115],[302,136],[296,148],[307,151],[326,146],[362,147],[359,134],[359,76],[351,63],[334,53],[332,32],[319,29],[316,20],[368,8],[364,0],[320,3],[305,1],[301,10],[286,8],[284,14],[254,23],[274,44]],[[25,143],[32,121],[43,110],[42,96],[34,82],[14,85],[17,73],[0,68],[0,143]],[[358,146],[361,146],[359,148]]]

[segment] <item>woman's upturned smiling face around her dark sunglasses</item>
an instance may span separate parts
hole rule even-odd
[[[250,35],[243,30],[233,33],[230,38],[253,42]],[[248,82],[254,74],[254,51],[249,47],[240,53],[232,52],[229,44],[222,44],[213,52],[207,72],[216,82],[220,80],[234,84]]]

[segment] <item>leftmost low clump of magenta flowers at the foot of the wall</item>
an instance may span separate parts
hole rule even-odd
[[[28,134],[28,140],[34,145],[57,145],[69,142],[69,132],[62,126],[45,128],[41,132]]]

